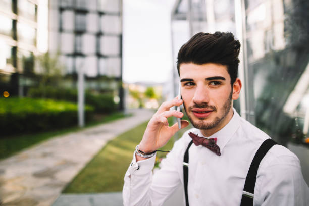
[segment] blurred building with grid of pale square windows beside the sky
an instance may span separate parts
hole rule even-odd
[[[66,75],[82,69],[86,88],[114,90],[122,101],[121,0],[49,1],[48,47]]]

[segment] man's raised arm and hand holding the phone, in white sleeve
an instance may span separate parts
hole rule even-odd
[[[139,149],[147,153],[155,151],[164,146],[169,139],[179,130],[177,123],[168,125],[167,118],[182,117],[183,113],[172,110],[173,106],[182,104],[177,97],[171,101],[164,102],[155,115],[150,119]],[[187,121],[182,121],[182,128],[188,126]],[[175,146],[174,146],[175,148]],[[173,150],[175,150],[173,148]],[[162,169],[156,173],[152,181],[152,169],[155,156],[142,158],[135,155],[125,175],[123,187],[124,205],[161,205],[166,197],[173,192],[179,183],[175,158],[172,151],[162,163]]]

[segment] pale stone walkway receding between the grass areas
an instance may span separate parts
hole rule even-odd
[[[153,115],[149,110],[129,113],[133,116],[47,140],[0,161],[0,205],[52,205],[102,146]]]

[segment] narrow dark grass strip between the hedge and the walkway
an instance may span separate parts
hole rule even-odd
[[[99,118],[96,118],[96,120],[86,123],[85,128],[95,126],[101,123],[110,122],[119,118],[123,118],[126,115],[123,113],[114,113],[111,115],[105,115],[101,116]],[[14,136],[5,136],[0,138],[0,159],[7,158],[14,153],[33,146],[41,141],[44,141],[46,139],[66,134],[69,132],[75,132],[79,131],[83,128],[79,128],[78,126],[66,128],[66,129],[59,129],[54,131],[47,131],[42,133],[36,133],[36,134],[21,134],[21,135],[14,135]]]

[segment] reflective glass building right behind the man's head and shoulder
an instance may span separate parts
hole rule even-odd
[[[298,156],[309,183],[307,11],[304,0],[179,0],[171,19],[174,62],[180,46],[197,32],[230,31],[241,41],[243,92],[235,107]]]

